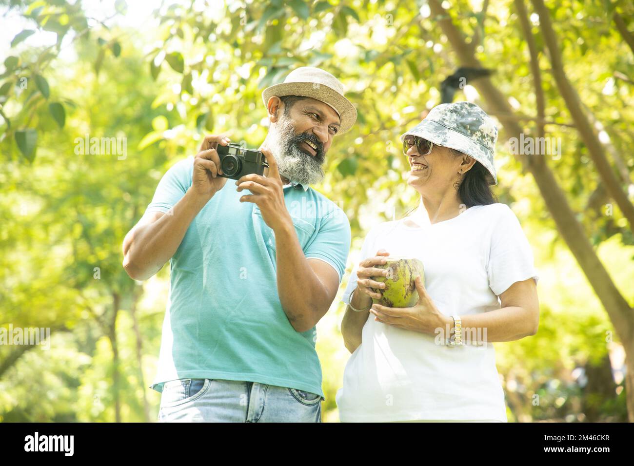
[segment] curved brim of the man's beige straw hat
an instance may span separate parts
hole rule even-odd
[[[310,97],[330,105],[341,119],[341,127],[338,134],[346,133],[346,131],[349,131],[349,129],[353,127],[354,122],[356,122],[357,111],[353,103],[331,87],[325,86],[325,84],[313,82],[280,82],[280,84],[269,86],[262,92],[264,107],[268,105],[269,99],[273,96]]]

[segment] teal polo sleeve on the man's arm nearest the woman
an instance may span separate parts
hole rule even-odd
[[[304,251],[304,256],[330,264],[337,271],[341,285],[350,252],[351,231],[346,213],[339,208],[333,212],[332,215],[324,217],[324,223],[313,242]]]

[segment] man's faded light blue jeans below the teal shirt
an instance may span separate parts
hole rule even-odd
[[[257,382],[170,380],[159,422],[321,422],[321,396]]]

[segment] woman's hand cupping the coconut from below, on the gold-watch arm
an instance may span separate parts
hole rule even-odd
[[[423,285],[420,275],[415,279],[416,290],[418,291],[418,302],[413,307],[387,307],[380,304],[372,304],[370,312],[376,317],[378,322],[413,330],[415,332],[436,333],[437,328],[446,331],[446,325],[453,327],[453,319],[442,314],[434,301],[432,301]]]

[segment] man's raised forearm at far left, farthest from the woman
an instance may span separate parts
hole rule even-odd
[[[169,261],[183,241],[191,221],[209,202],[188,190],[169,213],[131,232],[124,268],[135,280],[146,280]]]

